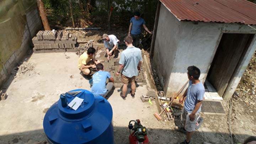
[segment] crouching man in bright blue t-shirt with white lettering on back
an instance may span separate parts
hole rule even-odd
[[[112,90],[114,78],[107,71],[103,71],[103,64],[96,65],[97,73],[92,75],[91,92],[94,95],[106,97],[108,92]],[[110,82],[106,84],[107,79]]]

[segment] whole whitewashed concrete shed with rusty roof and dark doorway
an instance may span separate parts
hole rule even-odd
[[[167,96],[201,70],[230,99],[256,49],[256,4],[246,0],[160,0],[150,56]]]

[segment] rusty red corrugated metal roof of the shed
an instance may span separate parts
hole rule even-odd
[[[160,0],[180,21],[256,25],[256,4],[247,0]]]

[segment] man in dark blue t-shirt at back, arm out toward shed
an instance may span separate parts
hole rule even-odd
[[[133,38],[133,45],[135,47],[139,46],[142,26],[144,27],[146,32],[152,34],[152,32],[150,32],[146,27],[146,22],[144,21],[144,19],[140,17],[140,13],[136,11],[134,13],[134,17],[132,17],[130,20],[130,26],[129,26],[129,32],[128,32],[128,35],[131,35]]]

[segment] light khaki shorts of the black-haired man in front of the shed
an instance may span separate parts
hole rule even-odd
[[[194,121],[191,121],[189,118],[190,114],[191,113],[187,112],[185,108],[182,109],[182,115],[181,115],[182,124],[184,124],[184,128],[187,132],[193,132],[196,130],[197,118],[199,116],[199,113],[197,113]]]

